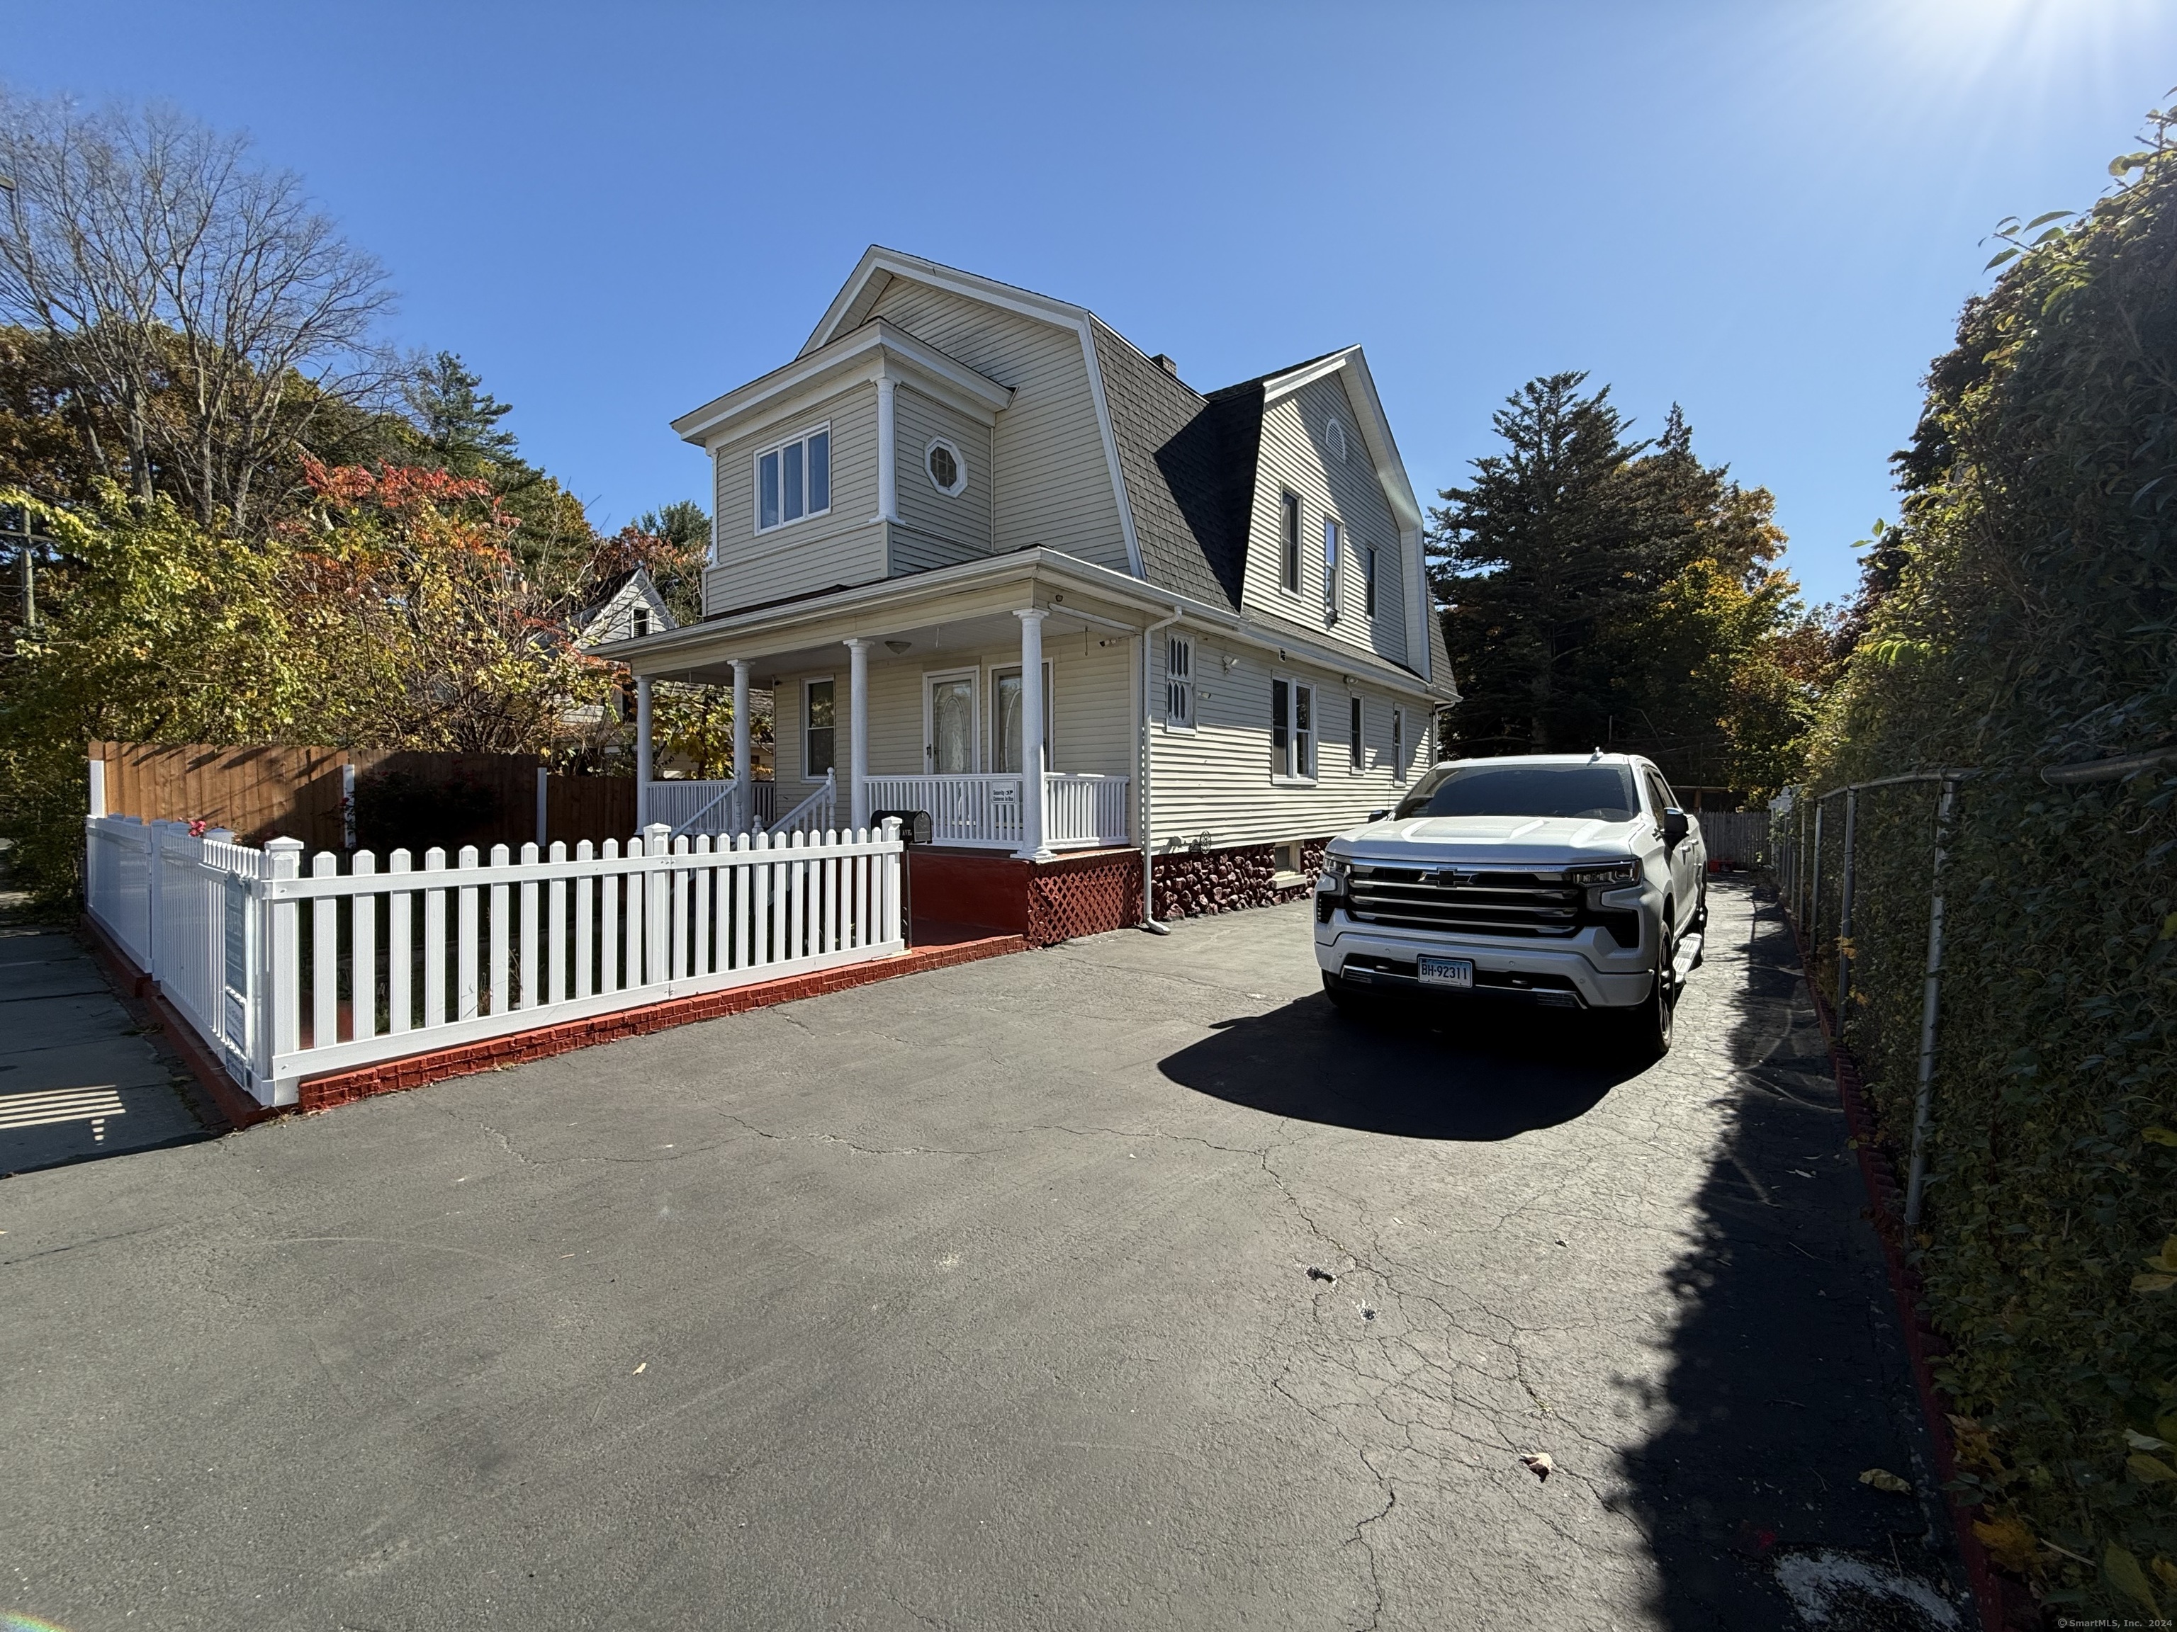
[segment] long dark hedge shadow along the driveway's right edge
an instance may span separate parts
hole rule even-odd
[[[1748,953],[1735,1071],[1715,1079],[1729,1121],[1672,1269],[1661,1397],[1644,1401],[1661,1427],[1622,1460],[1657,1621],[1966,1628],[1881,1249],[1774,901],[1757,901]],[[1868,1469],[1914,1495],[1864,1484]]]

